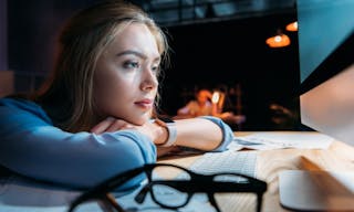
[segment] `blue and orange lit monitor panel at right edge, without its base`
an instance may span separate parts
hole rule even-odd
[[[296,2],[301,121],[354,145],[354,1]]]

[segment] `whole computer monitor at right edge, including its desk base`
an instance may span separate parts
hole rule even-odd
[[[296,7],[301,121],[354,146],[354,1],[298,0]],[[280,203],[300,211],[353,211],[354,191],[339,183],[353,182],[353,174],[283,171]],[[325,190],[329,182],[335,191]]]

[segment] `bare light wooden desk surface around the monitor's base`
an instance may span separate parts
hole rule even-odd
[[[236,136],[244,136],[251,132],[236,132]],[[299,132],[313,134],[313,132]],[[167,158],[164,162],[175,163],[183,167],[190,166],[198,157]],[[258,153],[257,178],[268,183],[268,191],[263,197],[262,211],[278,212],[288,211],[279,203],[279,180],[278,173],[282,170],[333,170],[354,171],[354,147],[344,142],[334,141],[329,149],[277,149],[262,150]],[[225,205],[232,206],[242,202],[235,202],[229,199]],[[232,206],[237,209],[240,206]],[[253,211],[242,208],[240,211]]]

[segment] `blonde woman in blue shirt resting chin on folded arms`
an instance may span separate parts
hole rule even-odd
[[[1,166],[87,188],[155,162],[176,146],[222,151],[232,139],[218,118],[173,125],[156,119],[159,67],[168,45],[139,8],[111,1],[82,10],[63,29],[59,50],[41,89],[0,100]]]

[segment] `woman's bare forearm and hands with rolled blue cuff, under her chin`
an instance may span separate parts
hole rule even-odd
[[[220,118],[200,116],[198,118],[175,120],[177,139],[174,146],[190,147],[204,151],[223,151],[232,141],[233,131]],[[157,146],[166,144],[169,137],[167,127],[159,121],[148,121],[142,126],[108,117],[96,125],[92,131],[102,134],[122,129],[134,129],[149,137]],[[159,148],[160,150],[165,148]]]

